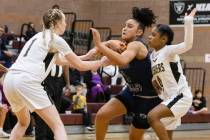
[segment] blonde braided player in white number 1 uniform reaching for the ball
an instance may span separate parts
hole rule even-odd
[[[54,63],[69,64],[78,70],[95,70],[103,63],[82,61],[59,36],[66,27],[65,15],[61,10],[48,10],[43,16],[43,24],[44,30],[25,44],[4,79],[5,95],[18,119],[10,140],[19,140],[24,135],[30,122],[29,110],[36,112],[49,125],[55,140],[67,140],[58,111],[41,83]],[[48,53],[52,52],[51,62],[45,63]]]

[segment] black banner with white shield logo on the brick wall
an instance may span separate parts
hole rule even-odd
[[[210,26],[210,0],[170,0],[170,25],[183,25],[186,12],[197,9],[195,25]]]

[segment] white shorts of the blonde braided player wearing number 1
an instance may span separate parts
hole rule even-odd
[[[5,76],[3,88],[14,112],[23,107],[33,112],[35,109],[52,105],[44,87],[28,73],[9,71]]]

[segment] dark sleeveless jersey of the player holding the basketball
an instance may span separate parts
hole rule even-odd
[[[145,44],[141,38],[137,39]],[[150,54],[142,60],[133,59],[127,66],[120,68],[120,73],[128,84],[128,90],[142,96],[156,96],[152,86]]]

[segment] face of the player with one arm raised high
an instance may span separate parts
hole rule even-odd
[[[148,37],[148,45],[151,48],[158,49],[162,46],[161,42],[162,38],[160,36],[160,33],[158,32],[157,28],[154,27],[152,29],[152,33]]]

